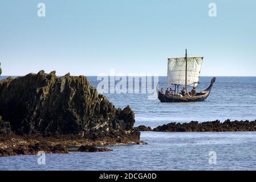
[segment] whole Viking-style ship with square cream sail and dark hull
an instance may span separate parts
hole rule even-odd
[[[157,85],[157,93],[160,102],[196,102],[204,101],[212,90],[213,83],[216,78],[213,77],[210,86],[203,91],[191,94],[187,92],[188,86],[196,86],[199,84],[199,76],[204,57],[176,57],[168,58],[168,71],[167,71],[167,87],[175,86],[174,94],[165,94],[160,92]],[[179,93],[179,86],[185,85],[184,96]]]

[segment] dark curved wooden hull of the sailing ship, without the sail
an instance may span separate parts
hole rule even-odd
[[[207,89],[205,89],[204,91],[197,93],[197,96],[193,96],[193,97],[165,96],[165,94],[162,94],[158,90],[158,98],[159,98],[160,102],[199,102],[199,101],[204,101],[209,96],[215,80],[216,80],[216,78],[213,77],[210,86]]]

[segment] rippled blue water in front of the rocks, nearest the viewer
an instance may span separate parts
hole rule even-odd
[[[256,170],[256,132],[155,133],[142,132],[148,145],[109,147],[112,152],[46,154],[0,158],[6,170]],[[217,164],[209,164],[215,151]]]

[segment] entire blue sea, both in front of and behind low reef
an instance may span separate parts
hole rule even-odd
[[[87,78],[96,87],[103,81],[96,76]],[[206,89],[211,79],[200,77],[197,90]],[[165,76],[158,81],[159,88],[166,88]],[[114,82],[117,85],[119,81]],[[149,97],[152,93],[143,92],[155,89],[153,82],[149,82],[150,89],[143,79],[138,82],[139,93],[112,93],[110,88],[109,93],[104,93],[116,107],[132,108],[135,126],[154,128],[169,122],[256,119],[256,77],[216,77],[205,101],[188,103],[161,103]],[[108,83],[111,85],[111,78]],[[143,131],[141,140],[148,144],[109,146],[111,152],[46,154],[45,164],[38,163],[37,155],[4,157],[0,158],[0,170],[256,170],[256,132]]]

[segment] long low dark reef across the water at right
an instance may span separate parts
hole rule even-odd
[[[227,119],[225,122],[207,121],[189,123],[168,123],[157,126],[155,129],[144,125],[135,127],[137,131],[163,131],[163,132],[225,132],[225,131],[256,131],[255,121],[231,121]]]

